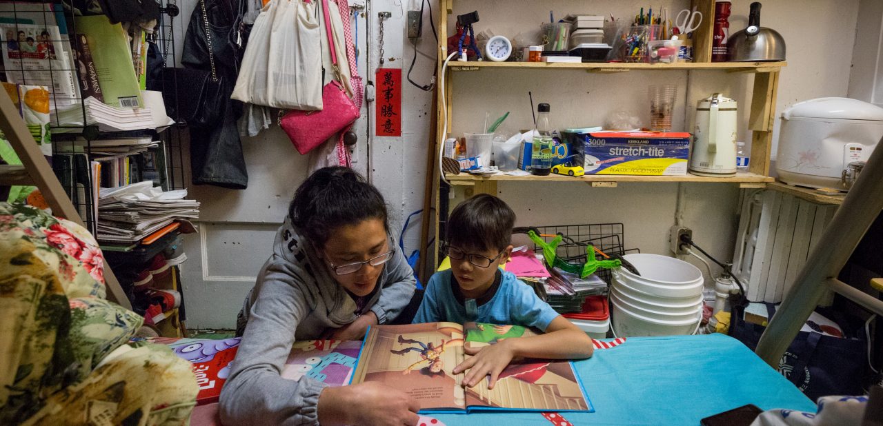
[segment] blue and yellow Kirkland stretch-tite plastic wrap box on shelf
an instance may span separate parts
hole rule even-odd
[[[569,133],[586,175],[684,176],[690,133],[596,131]]]

